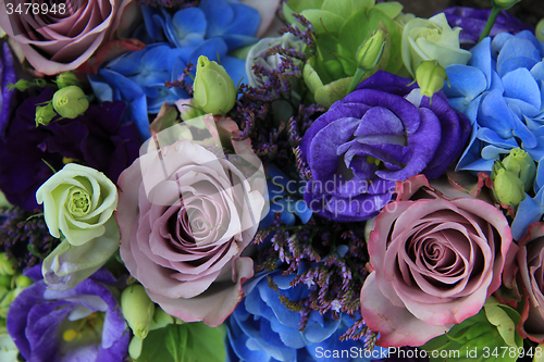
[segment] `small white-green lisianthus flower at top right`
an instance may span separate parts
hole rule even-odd
[[[413,76],[419,64],[425,60],[437,60],[446,67],[452,64],[467,64],[471,53],[459,47],[460,27],[452,28],[446,15],[410,20],[403,33],[403,62]]]

